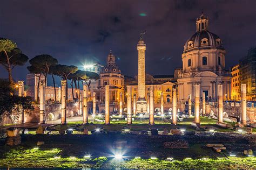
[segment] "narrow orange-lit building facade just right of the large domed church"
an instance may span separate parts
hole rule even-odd
[[[231,100],[241,100],[241,88],[240,88],[240,71],[239,65],[235,65],[231,68],[232,80],[231,80]]]

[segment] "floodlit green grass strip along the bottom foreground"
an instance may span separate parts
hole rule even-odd
[[[256,158],[254,157],[228,157],[228,158],[201,158],[183,159],[173,161],[159,159],[114,159],[112,157],[98,158],[77,158],[61,156],[58,148],[52,150],[41,150],[38,148],[25,149],[17,147],[5,153],[0,158],[0,167],[11,168],[150,168],[150,169],[169,169],[169,168],[213,168],[213,169],[255,169]]]

